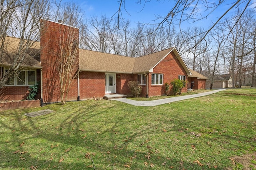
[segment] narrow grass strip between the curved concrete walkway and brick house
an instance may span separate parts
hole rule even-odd
[[[145,98],[145,97],[128,97],[127,99],[132,99],[132,100],[136,100],[136,101],[152,101],[152,100],[158,100],[158,99],[166,99],[166,98],[170,98],[170,97],[178,97],[178,96],[186,96],[186,95],[194,95],[194,94],[198,94],[198,93],[203,93],[203,92],[207,92],[207,91],[212,91],[212,90],[193,90],[193,91],[188,91],[187,93],[181,93],[181,95],[168,95],[168,96],[154,96],[154,97],[149,97],[149,98]]]

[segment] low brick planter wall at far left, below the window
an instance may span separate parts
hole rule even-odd
[[[29,108],[29,107],[40,107],[40,100],[13,101],[13,102],[0,103],[0,110]]]

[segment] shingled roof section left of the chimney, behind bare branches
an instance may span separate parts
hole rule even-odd
[[[19,42],[19,38],[6,37],[6,43],[8,43],[8,45],[3,51],[3,57],[0,57],[0,65],[7,67],[12,65]],[[26,51],[25,58],[20,66],[42,68],[40,63],[40,42],[35,42],[34,45]]]

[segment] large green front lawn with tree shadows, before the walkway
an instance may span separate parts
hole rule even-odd
[[[156,107],[88,100],[2,111],[0,170],[242,170],[232,157],[256,153],[255,101],[248,88]],[[23,115],[42,109],[54,113]]]

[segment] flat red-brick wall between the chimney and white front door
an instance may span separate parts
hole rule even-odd
[[[105,95],[105,73],[82,71],[79,73],[80,100],[103,98]]]

